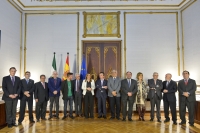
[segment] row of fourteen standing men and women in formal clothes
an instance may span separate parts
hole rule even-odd
[[[156,105],[157,121],[161,122],[160,102],[164,102],[164,122],[169,122],[169,108],[172,114],[173,124],[177,124],[176,115],[176,96],[179,92],[179,114],[181,123],[186,124],[185,114],[188,108],[189,124],[194,126],[194,106],[196,101],[196,82],[189,78],[189,72],[183,71],[183,79],[178,82],[172,80],[172,75],[167,73],[165,81],[158,79],[158,73],[153,73],[153,78],[148,80],[146,84],[143,80],[143,74],[137,73],[136,80],[132,79],[132,73],[128,71],[126,78],[121,79],[117,76],[117,71],[112,70],[112,76],[105,79],[103,72],[99,73],[99,79],[94,81],[90,74],[85,79],[80,79],[80,74],[75,74],[76,79],[72,80],[73,73],[67,73],[66,80],[61,80],[56,71],[52,77],[45,82],[46,76],[40,75],[40,81],[34,83],[30,79],[31,73],[25,72],[25,78],[21,79],[15,76],[16,68],[9,69],[10,75],[3,77],[3,100],[5,101],[6,122],[8,127],[17,126],[16,124],[16,106],[20,99],[20,114],[18,124],[24,120],[26,103],[28,103],[29,120],[35,123],[33,118],[33,99],[36,102],[36,120],[46,120],[47,103],[49,105],[49,120],[53,118],[52,109],[55,103],[56,119],[59,119],[59,97],[62,92],[64,102],[64,111],[62,119],[68,116],[74,119],[73,102],[75,103],[76,117],[94,118],[94,95],[97,98],[98,118],[106,119],[106,100],[109,97],[109,107],[111,112],[110,120],[120,120],[120,112],[122,109],[122,121],[132,121],[133,104],[136,103],[139,120],[145,121],[144,115],[146,111],[145,103],[150,99],[151,103],[151,119],[154,120],[154,107]],[[162,94],[163,93],[163,94]],[[82,102],[84,102],[84,111],[82,111]],[[67,114],[67,105],[69,103],[69,114]],[[121,105],[122,104],[122,105]],[[127,109],[128,104],[128,109]],[[83,114],[84,112],[84,114]]]

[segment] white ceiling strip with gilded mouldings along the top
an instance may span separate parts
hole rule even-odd
[[[31,10],[178,10],[193,0],[9,0],[24,11]]]

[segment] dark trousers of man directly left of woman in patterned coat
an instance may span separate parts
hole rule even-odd
[[[131,119],[132,114],[133,114],[134,100],[122,99],[122,115],[123,115],[123,118],[126,119],[127,102],[128,102],[128,119]]]

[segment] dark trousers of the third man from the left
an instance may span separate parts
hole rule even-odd
[[[46,116],[46,109],[47,109],[47,101],[44,100],[43,102],[36,102],[36,119],[39,120],[44,119]]]

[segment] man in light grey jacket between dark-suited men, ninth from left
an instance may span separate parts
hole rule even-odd
[[[110,119],[115,118],[115,106],[116,106],[116,118],[120,120],[120,88],[121,79],[117,77],[117,71],[112,70],[112,77],[108,79],[108,97],[110,101]]]

